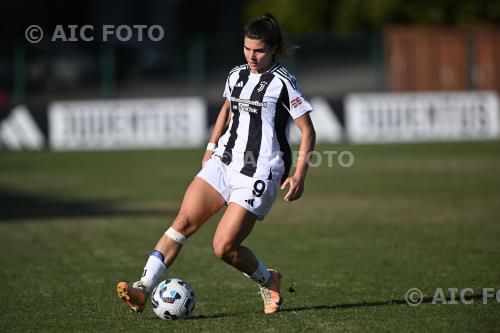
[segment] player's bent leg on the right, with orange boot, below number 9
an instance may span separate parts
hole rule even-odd
[[[249,248],[241,245],[252,231],[256,219],[255,214],[230,202],[214,235],[214,252],[217,257],[257,282],[261,288],[264,312],[275,313],[282,303],[281,275],[276,270],[268,270]]]

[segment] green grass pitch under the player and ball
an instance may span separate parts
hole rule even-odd
[[[265,316],[215,258],[218,215],[167,273],[196,292],[179,321],[130,313],[115,285],[139,277],[202,151],[1,152],[0,331],[499,331],[481,294],[500,289],[500,142],[317,148],[355,163],[311,168],[246,242],[284,274],[283,311]],[[431,304],[436,288],[472,288],[473,304]]]

